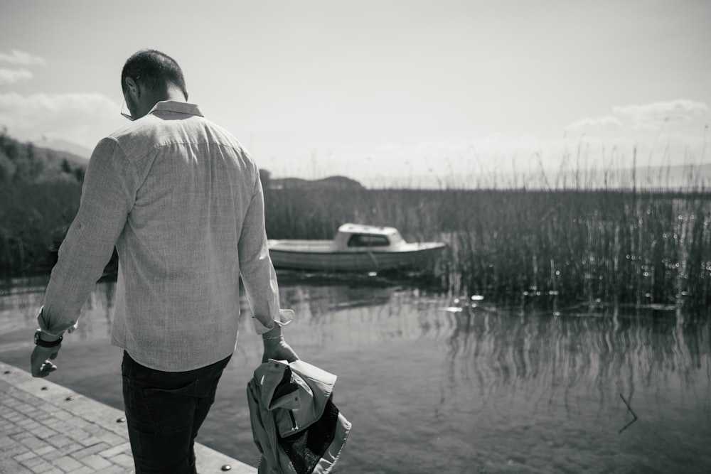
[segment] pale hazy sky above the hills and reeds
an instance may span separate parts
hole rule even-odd
[[[88,156],[153,48],[275,178],[708,163],[710,21],[705,0],[1,0],[0,126]]]

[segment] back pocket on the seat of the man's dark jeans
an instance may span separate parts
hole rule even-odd
[[[171,434],[191,429],[197,386],[196,380],[178,389],[141,389],[141,398],[154,433]]]

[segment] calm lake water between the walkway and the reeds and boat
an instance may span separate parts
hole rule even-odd
[[[1,290],[0,360],[28,369],[44,284]],[[387,281],[280,284],[296,311],[289,343],[338,375],[334,401],[353,423],[338,472],[711,472],[709,319],[522,311]],[[123,409],[113,295],[97,285],[50,379]],[[198,441],[256,465],[245,390],[261,343],[249,317]]]

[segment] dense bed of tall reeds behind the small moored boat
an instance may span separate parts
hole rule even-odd
[[[703,190],[268,189],[265,205],[274,239],[330,239],[358,222],[443,240],[424,276],[451,293],[693,311],[711,303]]]

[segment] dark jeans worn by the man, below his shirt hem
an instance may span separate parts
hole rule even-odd
[[[197,472],[195,437],[230,357],[188,372],[162,372],[124,351],[124,406],[136,474]]]

